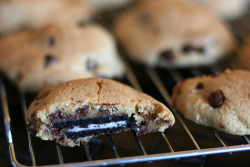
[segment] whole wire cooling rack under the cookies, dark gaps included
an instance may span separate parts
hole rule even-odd
[[[240,43],[244,42],[244,37],[250,35],[248,18],[250,18],[249,13],[241,20],[230,24],[233,33]],[[153,133],[150,136],[136,136],[135,132],[131,131],[129,132],[131,134],[128,141],[124,140],[128,136],[126,133],[105,135],[101,138],[92,139],[89,146],[84,145],[77,148],[77,154],[81,151],[84,152],[82,153],[82,159],[77,161],[66,160],[68,157],[76,156],[76,154],[72,154],[76,148],[66,149],[52,142],[47,142],[49,143],[48,155],[46,155],[47,153],[42,154],[39,153],[40,146],[44,145],[44,147],[47,147],[48,144],[32,137],[25,128],[20,130],[17,127],[19,125],[25,127],[27,105],[34,96],[25,95],[16,88],[14,88],[14,91],[10,90],[12,89],[9,86],[11,83],[6,81],[6,79],[1,79],[1,111],[3,113],[9,157],[13,166],[108,166],[138,164],[141,162],[147,162],[146,165],[151,166],[150,162],[152,161],[168,159],[180,161],[182,158],[187,157],[202,157],[202,159],[206,159],[208,155],[212,154],[229,153],[231,155],[233,152],[250,151],[249,136],[228,135],[212,128],[196,125],[183,118],[182,115],[172,108],[171,94],[172,88],[176,83],[189,77],[222,72],[226,68],[238,68],[239,66],[235,61],[237,51],[235,51],[230,59],[225,60],[223,63],[210,67],[180,70],[152,69],[134,64],[126,59],[126,52],[122,48],[119,51],[124,57],[127,66],[126,77],[121,82],[129,84],[139,91],[146,92],[165,103],[176,117],[175,126],[164,133]],[[13,99],[15,103],[18,103],[17,107],[13,107]],[[17,114],[16,112],[19,113]],[[15,115],[21,115],[19,119],[23,119],[22,123],[16,123]],[[19,130],[22,131],[21,135],[16,134]],[[180,137],[182,138],[181,140],[176,140],[176,138]],[[24,142],[20,143],[19,140]],[[125,146],[129,147],[131,145],[130,140],[133,141],[131,147],[136,147],[137,151],[135,151],[136,149],[129,148],[127,150],[128,153],[125,155],[123,152],[126,149]],[[153,142],[148,144],[149,140]],[[106,145],[105,148],[109,147],[109,151],[102,149],[103,143]],[[183,147],[183,143],[188,146]],[[25,147],[28,152],[21,153],[21,155],[17,153],[16,147],[19,148],[21,146]],[[39,149],[37,149],[38,147]],[[159,147],[161,148],[159,149]],[[49,152],[54,152],[55,154],[50,156]],[[97,156],[98,154],[101,154],[101,156]],[[109,156],[103,158],[102,155]],[[23,159],[26,159],[26,161],[24,162]],[[46,161],[47,159],[52,159],[52,161]]]

